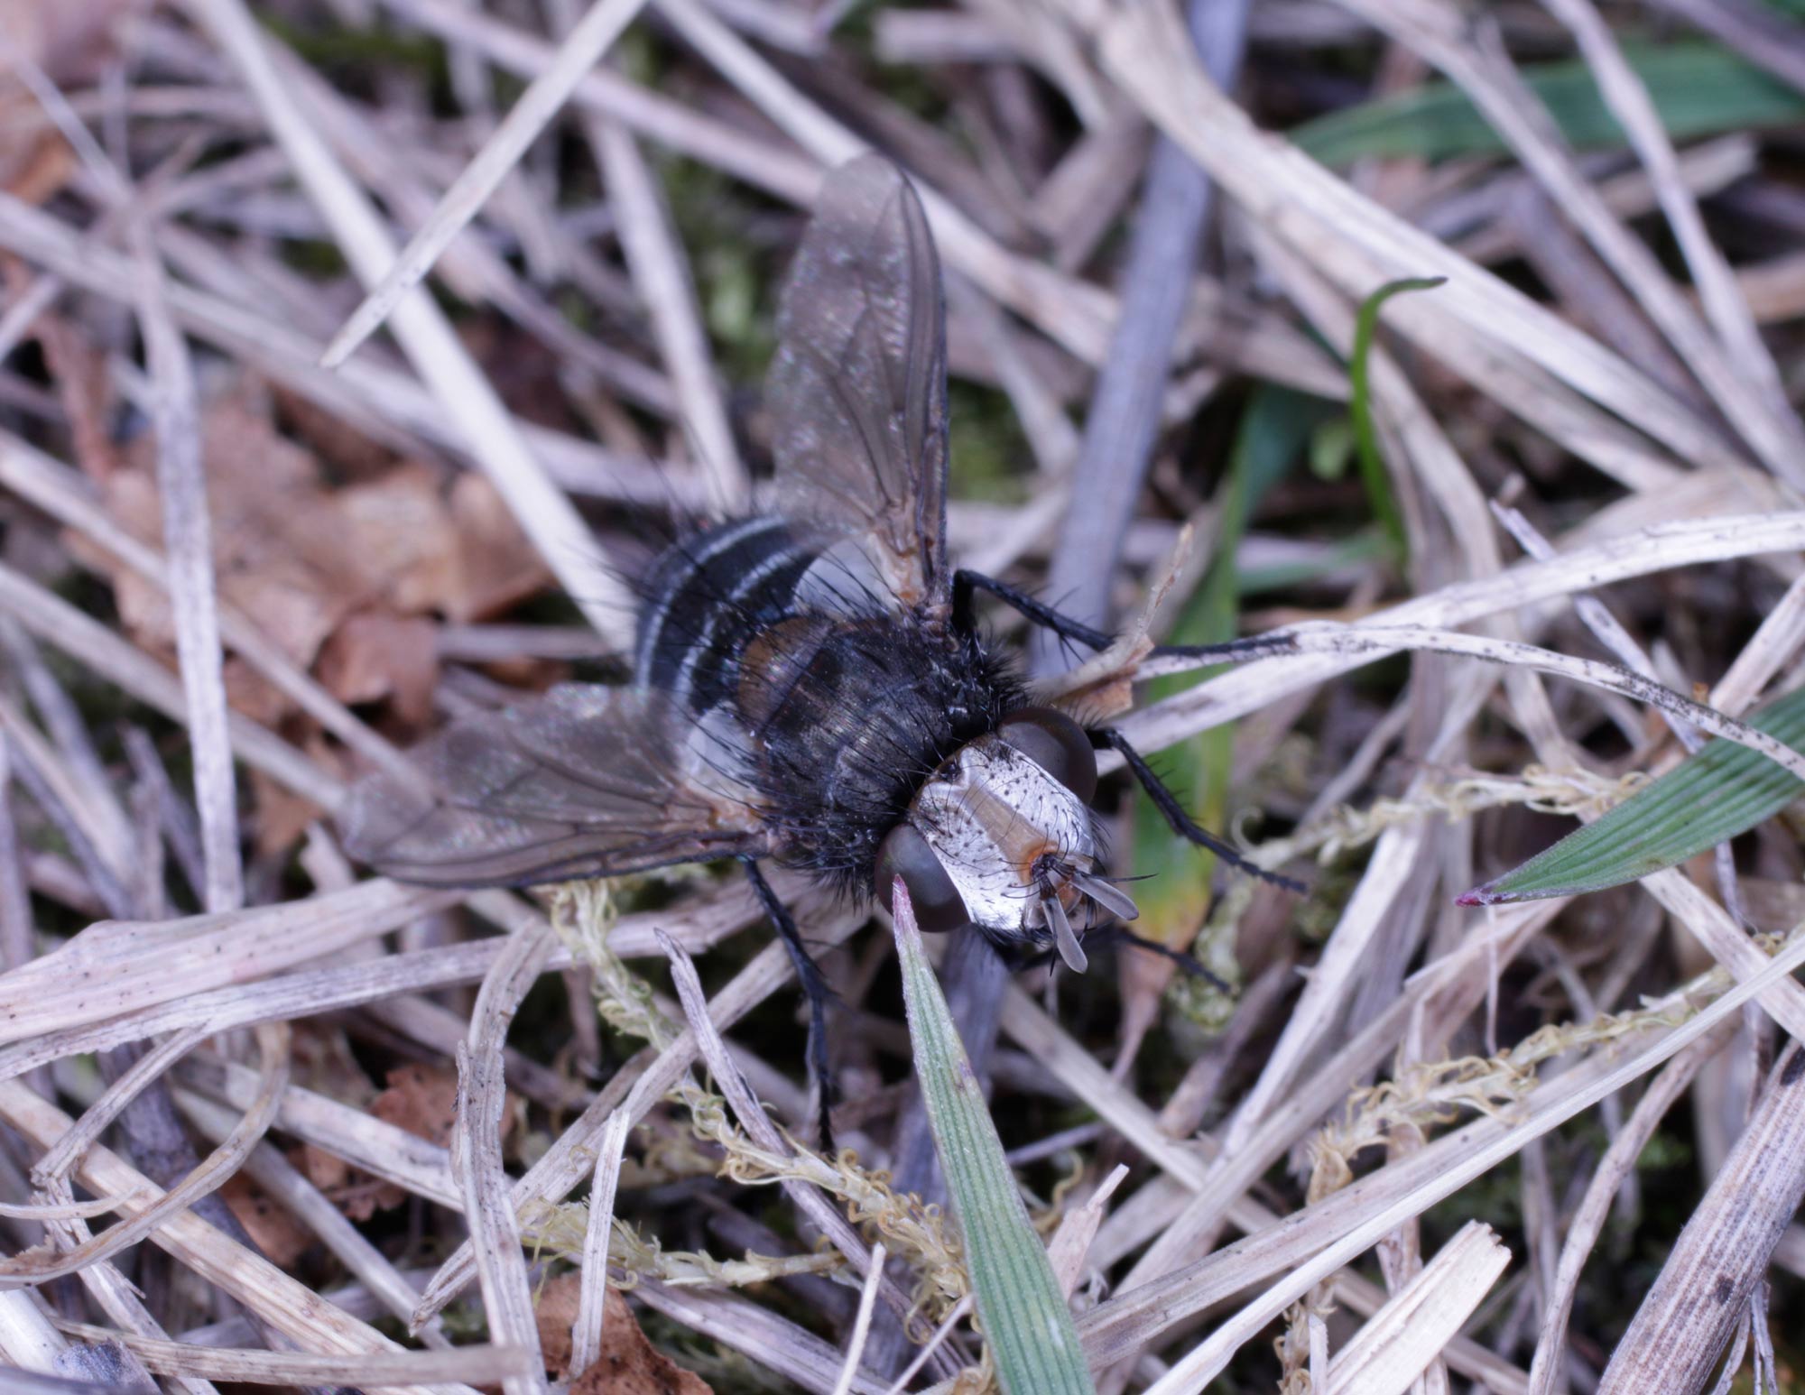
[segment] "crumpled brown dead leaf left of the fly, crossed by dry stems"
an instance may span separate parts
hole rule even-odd
[[[78,345],[61,345],[65,399],[87,388]],[[83,399],[85,402],[85,399]],[[70,411],[99,420],[99,406]],[[134,536],[161,543],[162,516],[152,448],[134,444],[114,466],[105,439],[78,451],[108,513]],[[448,476],[421,460],[336,485],[312,449],[274,426],[255,381],[213,397],[202,411],[213,565],[220,596],[343,702],[393,704],[410,725],[431,715],[439,679],[431,615],[473,621],[543,587],[549,574],[495,487],[480,475]],[[449,478],[449,484],[448,484]],[[70,545],[81,549],[79,538]],[[92,549],[114,583],[119,614],[139,644],[168,653],[168,601]],[[240,662],[227,662],[235,709],[264,725],[292,706]],[[292,819],[264,819],[292,832]],[[265,841],[265,846],[271,846]],[[280,846],[280,845],[274,845]]]

